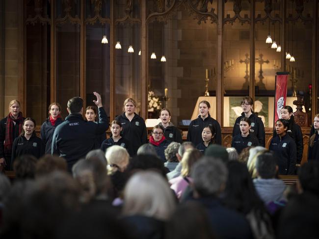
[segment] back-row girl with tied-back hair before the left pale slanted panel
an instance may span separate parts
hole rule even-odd
[[[211,105],[208,101],[199,102],[199,115],[197,119],[190,122],[188,126],[187,141],[198,145],[202,142],[202,132],[208,125],[213,126],[215,132],[215,142],[221,144],[221,129],[218,121],[213,119],[209,113]]]

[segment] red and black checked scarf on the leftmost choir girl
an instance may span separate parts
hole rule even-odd
[[[19,112],[18,118],[14,119],[11,112],[7,116],[7,123],[5,125],[5,140],[4,140],[4,154],[5,155],[11,155],[12,152],[12,145],[13,145],[13,121],[16,122],[16,124],[19,124],[19,134],[21,134],[22,127],[23,127],[23,117],[22,113]]]

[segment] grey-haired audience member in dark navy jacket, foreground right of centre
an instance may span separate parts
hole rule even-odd
[[[216,237],[253,238],[245,217],[224,207],[218,198],[224,191],[228,178],[226,165],[220,159],[203,157],[194,165],[191,176],[194,197],[205,207]]]

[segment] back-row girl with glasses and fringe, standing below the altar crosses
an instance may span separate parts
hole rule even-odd
[[[259,145],[265,147],[265,126],[261,118],[259,118],[253,111],[254,101],[250,96],[245,96],[241,100],[242,113],[234,124],[233,137],[240,134],[240,119],[243,117],[249,118],[250,126],[249,132],[255,135],[258,139]]]

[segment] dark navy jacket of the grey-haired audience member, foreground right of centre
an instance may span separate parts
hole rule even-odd
[[[216,238],[222,239],[252,239],[249,222],[244,215],[228,209],[213,197],[195,200],[206,209]]]

